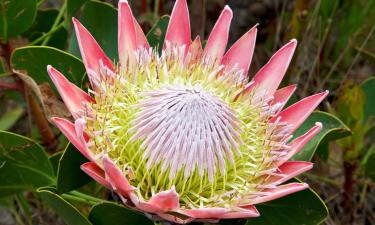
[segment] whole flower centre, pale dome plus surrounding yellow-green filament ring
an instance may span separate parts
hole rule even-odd
[[[274,138],[269,99],[238,97],[240,70],[169,52],[142,53],[137,68],[110,76],[102,69],[110,78],[87,110],[90,150],[98,161],[108,155],[144,199],[175,187],[192,208],[256,192],[286,142]]]

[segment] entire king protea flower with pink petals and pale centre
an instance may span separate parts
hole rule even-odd
[[[52,120],[90,160],[83,171],[127,207],[174,223],[257,217],[254,205],[308,187],[283,184],[312,168],[288,160],[322,125],[291,138],[328,92],[283,109],[296,85],[278,86],[296,40],[248,81],[257,28],[225,51],[228,6],[202,49],[199,37],[191,41],[186,0],[177,0],[160,55],[128,2],[120,0],[118,9],[116,63],[73,19],[89,93],[48,66],[75,119]]]

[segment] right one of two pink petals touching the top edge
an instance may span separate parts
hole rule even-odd
[[[164,48],[166,42],[172,45],[185,45],[187,50],[191,42],[189,9],[186,0],[176,0],[169,20],[165,35]]]

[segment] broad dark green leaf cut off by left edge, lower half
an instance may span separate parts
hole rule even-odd
[[[0,131],[0,197],[54,183],[52,165],[39,144]]]

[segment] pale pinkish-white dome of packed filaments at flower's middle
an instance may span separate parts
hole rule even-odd
[[[220,98],[195,86],[167,86],[145,93],[132,121],[132,140],[142,140],[148,168],[161,163],[169,178],[195,170],[213,180],[217,169],[240,154],[240,121]]]

